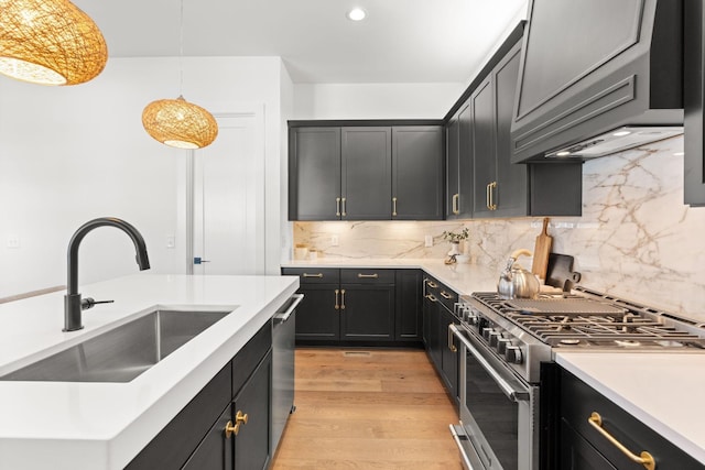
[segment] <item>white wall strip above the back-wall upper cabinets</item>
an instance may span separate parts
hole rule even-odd
[[[297,84],[292,119],[441,119],[465,84]]]

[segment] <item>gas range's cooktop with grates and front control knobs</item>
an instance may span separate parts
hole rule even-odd
[[[536,299],[462,296],[462,327],[530,383],[556,350],[705,352],[705,325],[576,286]]]

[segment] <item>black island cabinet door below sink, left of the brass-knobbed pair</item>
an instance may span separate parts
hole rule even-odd
[[[183,470],[232,469],[232,438],[226,436],[226,427],[231,418],[232,406],[228,405],[182,467]]]

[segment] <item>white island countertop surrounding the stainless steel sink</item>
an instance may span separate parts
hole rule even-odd
[[[299,288],[292,276],[137,274],[80,286],[113,299],[63,332],[64,292],[0,305],[0,375],[153,307],[232,310],[127,383],[0,381],[0,469],[121,469]]]

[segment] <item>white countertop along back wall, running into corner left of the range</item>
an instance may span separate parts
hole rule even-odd
[[[282,263],[282,267],[340,267],[340,269],[420,269],[441,281],[458,294],[495,292],[499,271],[480,264],[444,264],[443,260],[427,259],[319,259]]]

